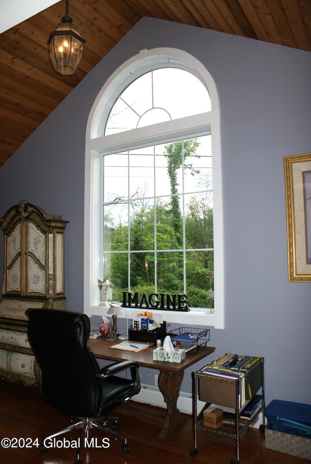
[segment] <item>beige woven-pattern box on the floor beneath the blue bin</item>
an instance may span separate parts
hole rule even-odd
[[[311,439],[278,432],[271,429],[264,431],[265,447],[280,453],[290,454],[311,461]]]

